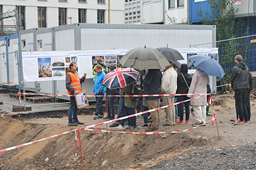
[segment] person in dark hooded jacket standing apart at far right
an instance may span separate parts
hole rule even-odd
[[[243,124],[244,122],[249,122],[245,106],[245,97],[250,93],[249,69],[244,64],[240,54],[236,55],[234,60],[237,65],[232,70],[231,86],[235,91],[236,112],[239,115],[239,121],[236,124]]]

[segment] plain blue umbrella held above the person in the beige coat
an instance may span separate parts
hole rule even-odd
[[[225,75],[223,67],[213,57],[198,54],[188,59],[193,62],[196,68],[203,70],[208,75],[215,75],[221,78]]]

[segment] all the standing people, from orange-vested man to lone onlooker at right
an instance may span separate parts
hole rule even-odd
[[[242,62],[242,56],[238,55],[235,57],[237,66],[234,67],[231,75],[231,84],[234,89],[235,99],[236,99],[236,111],[239,116],[240,122],[249,122],[250,114],[245,111],[245,97],[248,95],[250,89],[253,86],[252,75],[248,71],[248,67]],[[78,91],[81,91],[81,83],[86,79],[86,74],[79,79],[76,73],[76,63],[70,64],[70,70],[66,75],[66,88],[70,95],[77,95]],[[117,67],[120,68],[121,64],[118,63]],[[104,65],[104,59],[99,58],[93,66],[94,72],[94,95],[96,96],[96,111],[94,119],[99,119],[104,117],[103,109],[103,99],[105,91],[107,95],[131,95],[131,88],[133,84],[121,88],[118,90],[110,90],[104,87],[102,84],[105,79],[106,67]],[[108,67],[108,72],[115,69],[115,67]],[[138,76],[138,83],[143,88],[144,95],[160,95],[160,94],[188,94],[188,95],[177,95],[177,102],[189,100],[190,98],[196,98],[200,95],[190,95],[198,93],[209,93],[209,77],[208,74],[203,72],[203,70],[196,69],[193,78],[188,74],[187,64],[182,64],[179,72],[175,70],[175,64],[170,61],[170,66],[167,66],[162,73],[159,69],[148,69],[141,70]],[[208,87],[207,87],[208,86]],[[131,100],[130,97],[120,97],[118,104],[118,117],[124,117],[131,114],[135,114],[135,109],[146,111],[148,109],[155,109],[160,106],[161,96],[148,96],[143,97],[141,102],[136,100]],[[166,123],[164,126],[184,124],[183,121],[183,107],[185,106],[185,123],[189,124],[190,119],[190,104],[193,106],[193,113],[195,115],[195,121],[193,126],[205,124],[206,122],[206,102],[207,97],[203,96],[196,98],[192,101],[186,101],[178,104],[178,115],[180,120],[176,119],[177,114],[175,112],[175,106],[169,106],[165,108],[166,112]],[[104,117],[105,120],[115,119],[115,97],[108,96],[106,98],[108,106],[108,115]],[[164,106],[175,103],[175,96],[162,96],[162,103]],[[148,115],[150,118],[148,119]],[[158,129],[160,114],[158,111],[152,111],[151,113],[143,114],[144,125],[141,127],[146,127],[146,132],[151,132]],[[68,125],[83,124],[77,119],[77,108],[76,101],[74,97],[71,97],[71,105],[68,111]],[[149,127],[148,122],[151,121],[151,126]],[[125,125],[125,122],[126,125]],[[121,121],[114,122],[110,127],[116,127],[117,129],[132,129],[136,127],[136,116],[130,117],[128,119],[123,119]]]

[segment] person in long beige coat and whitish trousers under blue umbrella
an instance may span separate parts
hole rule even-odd
[[[203,70],[196,69],[195,74],[192,77],[192,82],[188,90],[188,94],[193,93],[206,93],[206,86],[209,84],[210,80],[208,74],[203,72]],[[189,98],[195,98],[199,95],[188,95]],[[196,98],[191,101],[191,105],[194,109],[195,121],[192,126],[197,126],[200,124],[205,124],[206,122],[206,96],[201,98]]]

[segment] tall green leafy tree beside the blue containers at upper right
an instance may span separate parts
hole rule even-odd
[[[210,12],[204,11],[202,7],[198,7],[198,16],[201,17],[200,22],[203,25],[216,25],[216,38],[219,40],[227,40],[235,37],[237,9],[233,6],[234,0],[208,0],[211,7]],[[231,69],[235,65],[234,56],[239,53],[236,46],[237,41],[221,41],[217,43],[219,48],[219,61],[225,70],[224,79],[230,82]]]

